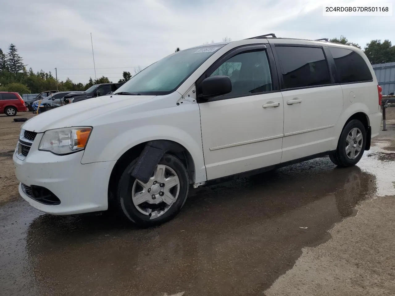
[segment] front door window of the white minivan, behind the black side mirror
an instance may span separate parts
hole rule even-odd
[[[237,54],[222,63],[211,76],[225,75],[232,82],[226,97],[245,96],[273,90],[266,50]]]

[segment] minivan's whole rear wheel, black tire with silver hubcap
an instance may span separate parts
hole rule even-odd
[[[353,119],[344,126],[336,152],[329,155],[339,167],[351,167],[361,159],[366,146],[366,129],[359,120]]]

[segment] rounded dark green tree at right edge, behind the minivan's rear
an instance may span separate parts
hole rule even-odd
[[[395,45],[388,39],[372,40],[366,44],[364,52],[372,64],[395,62]]]

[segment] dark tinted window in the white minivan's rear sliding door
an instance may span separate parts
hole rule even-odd
[[[324,51],[317,47],[276,46],[284,88],[331,84]]]

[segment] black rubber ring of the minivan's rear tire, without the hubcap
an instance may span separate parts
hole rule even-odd
[[[361,152],[359,152],[359,155],[355,159],[350,159],[346,155],[345,144],[346,144],[346,138],[348,133],[350,133],[350,131],[355,127],[359,128],[362,132],[362,137],[363,137],[362,149]],[[338,155],[337,157],[339,158],[340,163],[344,163],[347,165],[355,165],[361,159],[363,152],[365,152],[366,140],[367,140],[366,129],[365,126],[362,124],[362,122],[356,119],[348,122],[348,124],[346,124],[340,135],[339,144],[337,145],[337,155]]]

